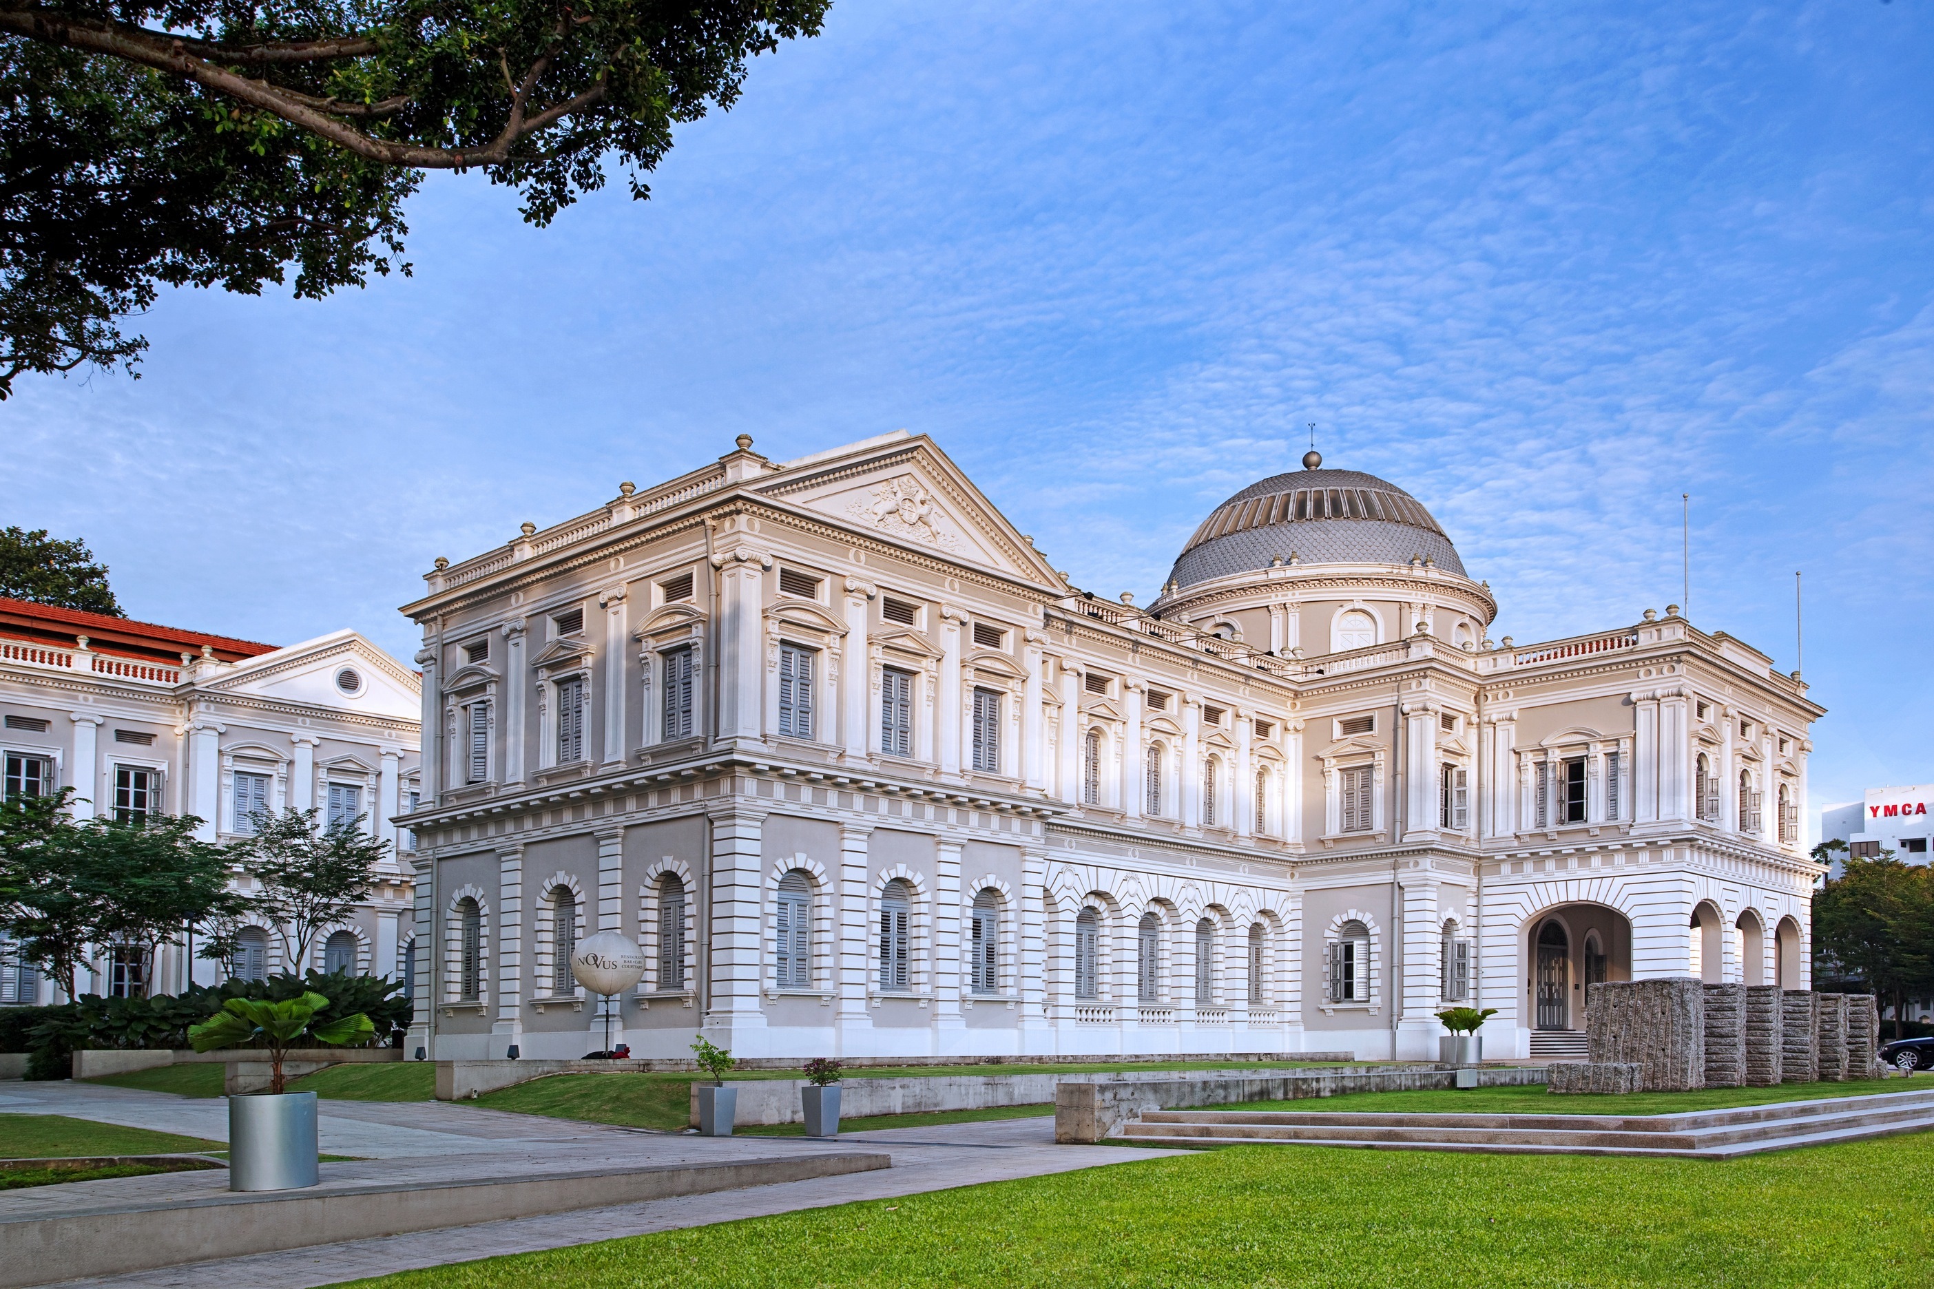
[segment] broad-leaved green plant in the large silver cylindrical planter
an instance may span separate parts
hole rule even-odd
[[[375,1022],[364,1013],[317,1024],[315,1013],[325,1007],[329,999],[321,993],[280,1003],[232,997],[219,1013],[190,1026],[188,1042],[195,1051],[257,1040],[269,1049],[269,1090],[228,1098],[230,1190],[292,1190],[321,1181],[315,1167],[315,1094],[288,1092],[282,1061],[300,1038],[348,1046],[369,1042],[375,1034]]]

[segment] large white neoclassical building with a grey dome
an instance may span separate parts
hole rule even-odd
[[[449,564],[418,1034],[636,1055],[1582,1046],[1584,984],[1806,986],[1804,686],[1667,609],[1530,647],[1429,512],[1305,470],[1141,609],[924,437],[739,448]]]

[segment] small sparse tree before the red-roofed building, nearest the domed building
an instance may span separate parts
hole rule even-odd
[[[325,928],[344,922],[369,899],[377,864],[389,850],[387,841],[362,831],[367,816],[323,829],[319,814],[253,814],[255,835],[228,848],[228,858],[261,883],[251,904],[275,922],[294,970]]]

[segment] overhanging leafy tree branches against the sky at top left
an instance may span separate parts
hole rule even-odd
[[[482,170],[547,224],[729,108],[830,0],[0,0],[0,398],[130,363],[157,284],[408,271],[402,199]]]

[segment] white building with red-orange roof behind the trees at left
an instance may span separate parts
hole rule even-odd
[[[414,841],[391,819],[420,790],[420,707],[416,673],[352,630],[275,647],[0,599],[6,794],[72,787],[81,817],[191,814],[217,843],[242,837],[249,812],[315,806],[327,819],[367,816],[371,835],[398,843],[373,899],[325,931],[309,962],[286,964],[275,928],[246,930],[236,960],[246,976],[286,966],[406,974]],[[77,984],[174,993],[190,972],[220,980],[220,964],[180,949],[143,964],[103,945]],[[60,1001],[52,982],[0,960],[0,1003],[35,1001]]]

